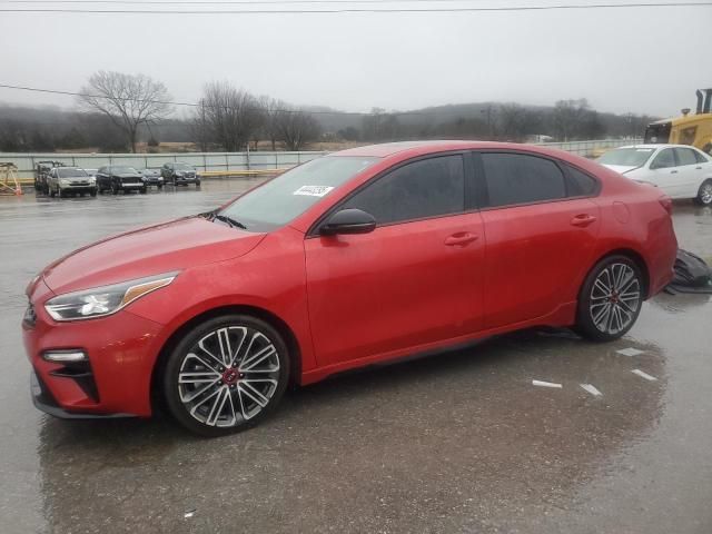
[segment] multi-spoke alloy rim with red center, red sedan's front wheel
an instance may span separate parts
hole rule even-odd
[[[212,427],[234,427],[267,407],[279,384],[279,355],[263,332],[217,328],[185,355],[178,394],[186,412]]]

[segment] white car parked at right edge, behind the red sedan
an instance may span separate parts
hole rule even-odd
[[[634,145],[605,152],[599,162],[635,181],[660,187],[671,198],[712,205],[712,158],[686,145]]]

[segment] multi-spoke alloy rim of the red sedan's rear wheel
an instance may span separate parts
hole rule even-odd
[[[596,276],[591,288],[589,313],[595,327],[615,335],[635,320],[641,305],[641,284],[633,268],[611,264]]]

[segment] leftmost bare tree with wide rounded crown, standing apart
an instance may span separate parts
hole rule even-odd
[[[136,152],[138,129],[170,112],[168,90],[160,81],[144,75],[125,75],[100,70],[81,89],[80,103],[109,117],[126,136]]]

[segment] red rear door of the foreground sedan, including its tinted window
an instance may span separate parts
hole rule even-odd
[[[485,327],[547,317],[575,303],[600,229],[599,182],[533,154],[482,152]]]

